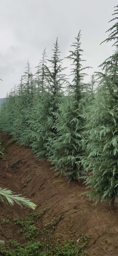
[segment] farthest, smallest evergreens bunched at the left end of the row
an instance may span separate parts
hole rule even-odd
[[[30,144],[29,119],[33,104],[35,83],[29,62],[18,87],[7,96],[0,112],[0,128],[21,142]]]

